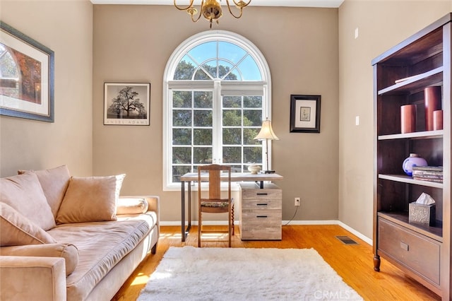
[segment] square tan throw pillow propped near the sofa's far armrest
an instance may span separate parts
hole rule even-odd
[[[57,223],[117,220],[117,199],[125,176],[71,177]]]

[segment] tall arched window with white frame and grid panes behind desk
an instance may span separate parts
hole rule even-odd
[[[270,71],[249,40],[224,30],[190,37],[169,58],[163,91],[164,189],[179,189],[198,165],[262,165],[254,137],[270,117]]]

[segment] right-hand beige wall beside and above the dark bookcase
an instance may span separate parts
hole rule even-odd
[[[339,8],[339,220],[367,237],[374,175],[371,60],[446,15],[451,3],[345,0]]]

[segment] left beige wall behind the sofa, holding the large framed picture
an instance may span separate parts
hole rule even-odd
[[[0,1],[0,19],[55,53],[55,122],[0,117],[0,176],[66,164],[91,175],[93,5],[77,1]]]

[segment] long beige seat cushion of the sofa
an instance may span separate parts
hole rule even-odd
[[[49,230],[59,242],[76,245],[78,266],[66,279],[67,299],[85,300],[91,290],[155,227],[153,216],[57,225]]]

